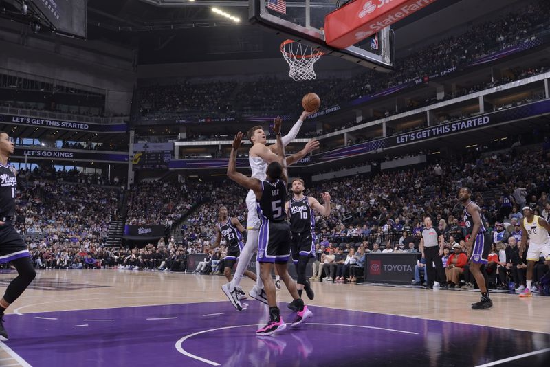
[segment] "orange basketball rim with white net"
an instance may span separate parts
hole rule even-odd
[[[281,54],[283,54],[290,67],[288,76],[294,79],[295,82],[317,78],[314,64],[324,55],[323,52],[292,39],[287,39],[281,43]]]

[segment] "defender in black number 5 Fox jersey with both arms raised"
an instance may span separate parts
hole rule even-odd
[[[256,206],[258,216],[261,219],[258,240],[258,261],[260,262],[260,276],[263,280],[267,302],[270,306],[270,322],[266,326],[256,331],[256,335],[272,335],[283,331],[286,324],[281,318],[277,307],[275,292],[275,283],[271,276],[275,265],[281,280],[287,286],[292,296],[292,303],[288,305],[289,309],[296,311],[300,322],[293,323],[292,326],[298,326],[306,318],[303,315],[309,311],[303,300],[298,296],[296,283],[288,274],[287,262],[290,257],[290,227],[286,219],[285,202],[287,201],[287,162],[285,160],[285,147],[281,141],[281,124],[283,120],[276,118],[274,131],[277,135],[276,153],[279,156],[279,162],[272,162],[267,166],[266,180],[246,177],[236,171],[236,153],[241,146],[243,133],[239,131],[232,144],[231,155],[229,158],[228,177],[239,183],[239,185],[250,188],[256,195]]]

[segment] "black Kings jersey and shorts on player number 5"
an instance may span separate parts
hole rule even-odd
[[[258,238],[260,263],[287,263],[290,257],[290,225],[285,220],[287,183],[262,181],[262,196],[256,200],[261,219]]]

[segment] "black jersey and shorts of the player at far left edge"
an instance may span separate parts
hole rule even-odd
[[[0,263],[30,257],[23,238],[13,227],[16,188],[14,168],[0,164],[0,221],[4,222],[4,225],[0,225]]]

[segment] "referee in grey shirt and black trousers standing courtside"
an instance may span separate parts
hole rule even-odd
[[[443,256],[443,234],[437,228],[432,227],[432,219],[429,216],[424,218],[424,229],[420,240],[420,252],[426,258],[426,275],[428,285],[426,289],[434,289],[434,265],[439,275],[441,286],[439,289],[447,289],[447,276],[443,269],[441,256]]]

